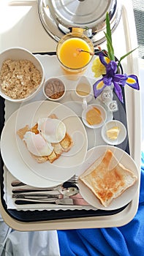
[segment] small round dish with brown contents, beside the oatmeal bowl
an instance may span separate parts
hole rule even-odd
[[[43,93],[47,99],[59,101],[66,93],[66,86],[59,78],[48,78],[48,80],[45,80]]]

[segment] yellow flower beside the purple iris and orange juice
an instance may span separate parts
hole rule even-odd
[[[110,60],[107,57],[106,59],[107,59],[107,63],[110,62]],[[101,75],[106,74],[106,68],[102,64],[98,56],[94,59],[91,70],[92,72],[94,72],[95,78],[99,78]]]

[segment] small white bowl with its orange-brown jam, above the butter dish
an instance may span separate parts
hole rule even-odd
[[[107,119],[105,108],[101,105],[91,104],[83,110],[82,120],[86,127],[95,129],[102,127]]]

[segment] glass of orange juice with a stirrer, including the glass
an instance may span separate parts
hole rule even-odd
[[[82,75],[93,58],[94,45],[83,31],[73,28],[58,42],[56,54],[65,75]]]

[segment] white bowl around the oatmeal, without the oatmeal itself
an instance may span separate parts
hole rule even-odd
[[[39,61],[39,59],[37,59],[36,56],[34,56],[29,50],[26,50],[25,48],[19,48],[19,47],[8,48],[7,50],[4,50],[3,52],[0,53],[0,70],[3,62],[7,59],[12,59],[12,60],[25,59],[25,60],[31,61],[34,64],[34,66],[39,70],[42,76],[42,79],[39,85],[37,86],[37,88],[31,94],[29,94],[27,97],[23,99],[13,99],[12,97],[7,96],[6,94],[4,94],[3,91],[1,91],[1,86],[0,86],[0,96],[3,97],[4,99],[9,100],[10,102],[25,102],[33,98],[37,94],[37,92],[39,92],[39,90],[42,88],[42,85],[45,81],[44,68],[42,67],[41,62]]]

